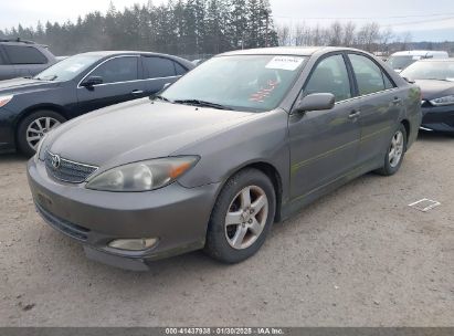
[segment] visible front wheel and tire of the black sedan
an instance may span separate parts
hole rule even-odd
[[[19,150],[28,157],[33,156],[41,138],[64,122],[66,118],[54,111],[33,112],[19,124],[17,134]]]

